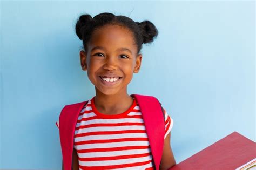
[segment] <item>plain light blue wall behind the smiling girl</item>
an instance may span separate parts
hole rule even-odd
[[[0,168],[61,168],[60,110],[95,95],[74,30],[84,12],[157,26],[129,93],[173,118],[177,163],[234,131],[255,141],[254,1],[2,1]]]

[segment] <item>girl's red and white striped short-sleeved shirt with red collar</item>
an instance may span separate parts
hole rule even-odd
[[[154,169],[149,139],[135,98],[123,113],[107,115],[97,111],[91,98],[80,112],[74,148],[79,169]],[[165,111],[165,136],[173,119]],[[59,121],[56,122],[59,127]]]

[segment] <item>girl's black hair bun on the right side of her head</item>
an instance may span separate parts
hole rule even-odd
[[[153,42],[153,38],[157,37],[158,30],[154,24],[148,20],[145,20],[143,22],[136,22],[140,30],[142,31],[143,36],[143,43],[151,43]]]

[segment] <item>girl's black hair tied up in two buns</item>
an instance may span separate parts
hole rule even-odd
[[[89,14],[81,15],[77,19],[76,34],[80,40],[83,40],[83,46],[87,52],[87,43],[91,39],[93,31],[102,28],[104,25],[119,25],[128,28],[134,35],[134,40],[137,45],[137,53],[142,49],[142,44],[153,42],[158,35],[158,30],[154,24],[148,20],[143,22],[134,22],[126,16],[115,16],[113,13],[100,13],[95,17]]]

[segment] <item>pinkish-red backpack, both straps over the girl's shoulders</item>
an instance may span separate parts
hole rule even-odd
[[[140,94],[131,94],[131,96],[137,100],[140,112],[142,112],[154,165],[158,170],[164,147],[165,117],[163,119],[163,115],[165,114],[163,107],[156,97]],[[59,115],[60,145],[65,170],[73,167],[72,154],[75,127],[78,115],[88,101],[65,105]]]

